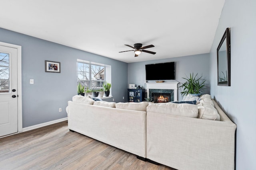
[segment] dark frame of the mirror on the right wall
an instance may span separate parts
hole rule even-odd
[[[226,81],[219,81],[219,50],[222,44],[224,43],[224,40],[226,39],[226,61],[227,61],[227,80]],[[224,32],[224,35],[222,36],[222,39],[220,40],[220,43],[217,48],[217,81],[218,86],[230,86],[230,28],[226,28],[226,31]]]

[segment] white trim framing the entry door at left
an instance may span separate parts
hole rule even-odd
[[[22,132],[22,81],[21,81],[21,46],[0,42],[1,46],[17,49],[17,79],[18,79],[18,133]]]

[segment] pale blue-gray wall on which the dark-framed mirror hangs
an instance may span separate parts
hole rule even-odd
[[[256,1],[226,0],[210,52],[211,95],[236,123],[236,169],[256,169]],[[217,86],[216,49],[227,27],[231,86]]]

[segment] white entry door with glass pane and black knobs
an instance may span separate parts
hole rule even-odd
[[[0,137],[18,132],[17,49],[0,46]]]

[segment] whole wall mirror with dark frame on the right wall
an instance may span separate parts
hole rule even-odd
[[[218,86],[230,86],[230,28],[226,28],[217,48]]]

